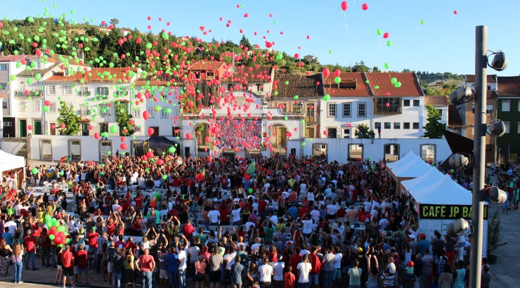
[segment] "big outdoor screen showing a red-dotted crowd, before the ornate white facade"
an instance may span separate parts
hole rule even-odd
[[[218,145],[221,149],[260,149],[260,120],[226,120],[220,126]]]

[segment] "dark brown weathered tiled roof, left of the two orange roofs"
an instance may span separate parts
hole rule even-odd
[[[295,75],[295,74],[275,74],[276,89],[278,95],[273,97],[322,97],[323,84],[321,74]],[[285,84],[285,81],[289,81]],[[316,82],[320,82],[319,85]]]

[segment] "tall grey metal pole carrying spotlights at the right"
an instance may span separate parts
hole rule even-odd
[[[477,26],[475,37],[475,126],[473,148],[473,203],[472,247],[469,265],[469,287],[481,287],[481,265],[484,215],[484,173],[486,151],[486,91],[488,90],[487,65],[488,27]]]

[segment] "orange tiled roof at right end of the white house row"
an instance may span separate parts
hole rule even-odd
[[[370,81],[374,96],[386,96],[386,93],[390,93],[390,96],[424,96],[415,73],[365,73],[365,77]],[[393,77],[401,82],[401,87],[396,88],[391,83]],[[379,86],[379,89],[375,89],[375,86]]]

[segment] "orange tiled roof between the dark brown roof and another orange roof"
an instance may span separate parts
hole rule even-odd
[[[356,81],[356,89],[339,89],[338,84],[334,82],[334,75],[330,74],[329,77],[323,79],[325,84],[325,94],[330,96],[360,96],[370,97],[370,87],[366,83],[365,74],[361,72],[344,72],[339,74],[342,80],[353,80]]]

